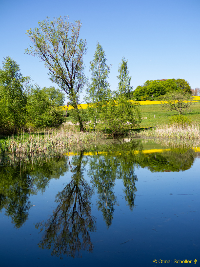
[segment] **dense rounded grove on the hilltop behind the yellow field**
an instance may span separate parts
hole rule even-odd
[[[184,79],[148,80],[134,91],[137,100],[157,100],[159,96],[172,91],[182,91],[191,94],[191,87]]]

